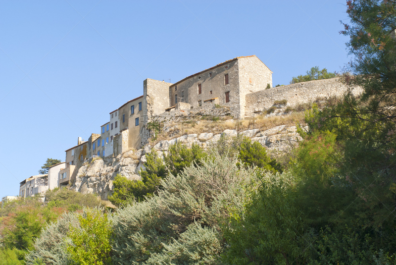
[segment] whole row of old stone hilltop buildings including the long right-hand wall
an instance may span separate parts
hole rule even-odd
[[[268,89],[267,89],[268,88]],[[174,84],[153,79],[143,82],[143,95],[109,113],[109,121],[87,141],[65,151],[65,161],[48,174],[20,182],[19,196],[29,197],[73,182],[87,161],[109,158],[143,148],[150,137],[148,124],[164,112],[227,107],[234,119],[246,119],[287,100],[290,106],[316,98],[342,96],[346,85],[338,78],[272,87],[272,71],[255,55],[236,57],[190,75]],[[358,90],[355,93],[359,93]]]

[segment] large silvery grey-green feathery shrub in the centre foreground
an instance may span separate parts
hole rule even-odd
[[[221,264],[220,222],[243,208],[259,180],[237,160],[216,157],[161,181],[147,201],[111,218],[114,264]]]

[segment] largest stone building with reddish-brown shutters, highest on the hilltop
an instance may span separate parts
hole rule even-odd
[[[245,116],[247,93],[272,86],[272,71],[255,55],[237,57],[186,77],[169,87],[170,106],[178,102],[193,107],[218,98],[234,117]]]

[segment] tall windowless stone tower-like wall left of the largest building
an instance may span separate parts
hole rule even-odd
[[[143,115],[148,120],[169,107],[169,86],[171,85],[171,83],[149,78],[143,81]]]

